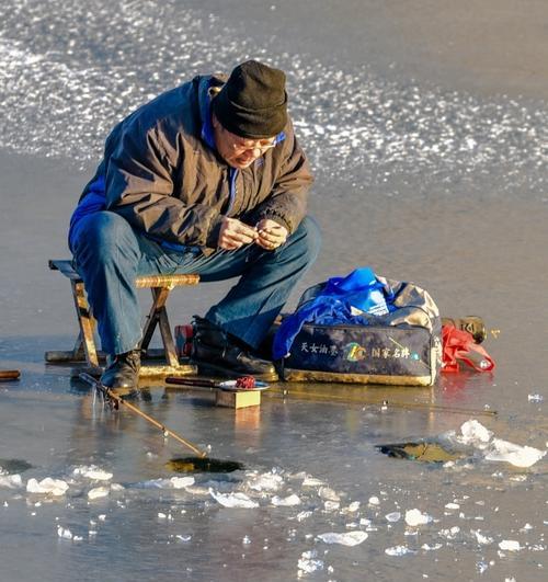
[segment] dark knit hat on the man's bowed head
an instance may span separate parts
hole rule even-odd
[[[287,122],[285,73],[248,60],[230,73],[213,111],[225,129],[251,139],[273,137]]]

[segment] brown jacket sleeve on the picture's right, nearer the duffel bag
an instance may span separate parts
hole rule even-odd
[[[271,195],[258,206],[258,220],[270,218],[285,226],[289,233],[295,232],[306,215],[308,191],[313,182],[308,159],[300,148],[293,125],[286,128],[283,141],[283,156],[279,173]]]

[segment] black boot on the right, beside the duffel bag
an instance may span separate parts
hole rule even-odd
[[[192,360],[205,374],[252,375],[261,380],[277,380],[272,362],[251,354],[241,342],[206,319],[194,320]]]

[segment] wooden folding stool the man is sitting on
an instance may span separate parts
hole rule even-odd
[[[89,366],[89,372],[95,375],[101,374],[102,368],[99,365],[99,358],[100,356],[104,356],[104,354],[99,353],[95,347],[93,334],[95,320],[88,304],[82,277],[73,269],[72,261],[70,260],[52,259],[48,261],[48,266],[52,271],[59,271],[70,281],[80,333],[71,351],[49,351],[45,353],[45,360],[47,363],[85,362]],[[135,286],[137,288],[149,287],[152,292],[152,306],[142,329],[142,340],[139,347],[145,352],[145,357],[153,357],[157,355],[157,351],[150,350],[149,344],[158,327],[163,343],[162,352],[165,358],[165,365],[162,366],[141,366],[140,376],[163,377],[167,375],[180,376],[196,374],[196,366],[181,364],[179,362],[165,303],[173,288],[183,285],[197,285],[198,283],[199,275],[195,274],[145,275],[135,279]]]

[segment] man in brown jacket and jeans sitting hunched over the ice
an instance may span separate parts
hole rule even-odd
[[[250,60],[225,80],[196,77],[122,121],[72,215],[69,246],[109,354],[107,387],[137,384],[134,282],[156,273],[240,277],[196,318],[193,360],[275,378],[256,350],[319,251],[306,216],[312,178],[285,75]]]

